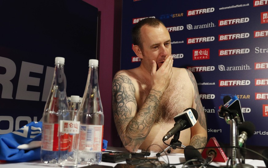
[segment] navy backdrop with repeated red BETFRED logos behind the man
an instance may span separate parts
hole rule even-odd
[[[268,146],[268,1],[123,0],[121,69],[139,66],[131,29],[147,17],[167,27],[173,66],[193,72],[208,138],[230,143],[218,109],[224,96],[237,95],[245,121],[256,126],[247,145]]]

